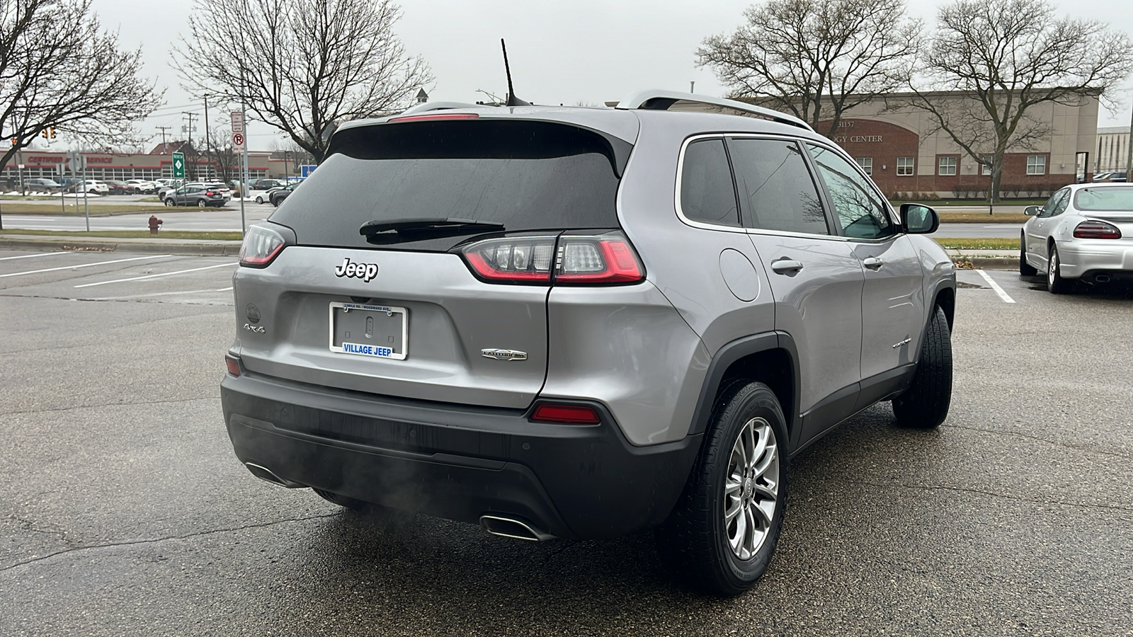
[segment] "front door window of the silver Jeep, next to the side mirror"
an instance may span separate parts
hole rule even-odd
[[[846,237],[879,239],[896,233],[896,226],[887,212],[888,204],[881,201],[857,164],[829,148],[811,144],[807,148],[826,182],[835,219]]]

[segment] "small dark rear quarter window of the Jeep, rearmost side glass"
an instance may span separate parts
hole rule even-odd
[[[684,150],[681,212],[691,221],[740,224],[724,139],[698,139]]]

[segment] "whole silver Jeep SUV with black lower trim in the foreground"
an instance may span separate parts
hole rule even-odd
[[[945,418],[937,224],[726,100],[351,121],[245,239],[228,432],[256,476],[353,509],[531,541],[656,528],[738,594],[792,457],[878,401]]]

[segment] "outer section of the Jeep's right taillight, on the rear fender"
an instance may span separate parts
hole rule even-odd
[[[621,232],[559,238],[556,283],[632,283],[642,279],[641,261]]]

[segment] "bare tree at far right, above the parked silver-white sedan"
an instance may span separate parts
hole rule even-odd
[[[928,88],[974,101],[914,87],[913,105],[976,162],[987,165],[990,156],[991,201],[1007,148],[1033,147],[1049,134],[1034,107],[1079,105],[1087,95],[1107,101],[1133,70],[1127,35],[1097,20],[1058,18],[1046,0],[955,0],[937,22],[925,59]]]

